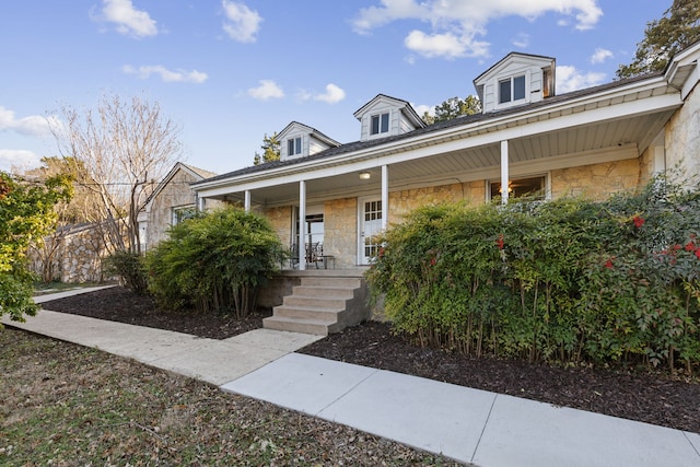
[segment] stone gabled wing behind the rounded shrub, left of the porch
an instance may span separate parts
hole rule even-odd
[[[213,177],[213,172],[203,171],[177,162],[159,183],[139,211],[139,240],[141,252],[152,248],[166,237],[167,230],[186,219],[196,209],[213,207],[217,201],[199,200],[190,184]]]

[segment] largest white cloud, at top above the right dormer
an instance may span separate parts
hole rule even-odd
[[[479,39],[492,20],[505,16],[537,16],[556,12],[574,20],[576,30],[595,26],[603,11],[597,0],[380,0],[380,4],[360,9],[353,22],[359,34],[394,21],[418,20],[428,31],[411,31],[404,44],[424,57],[485,57],[489,44]],[[561,21],[559,20],[560,24]]]

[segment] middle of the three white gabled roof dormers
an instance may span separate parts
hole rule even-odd
[[[425,126],[408,102],[384,94],[377,94],[353,115],[360,120],[360,141],[398,136]]]

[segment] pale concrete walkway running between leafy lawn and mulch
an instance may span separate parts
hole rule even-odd
[[[47,311],[3,324],[478,466],[700,466],[698,433],[293,353],[317,336],[200,339]]]

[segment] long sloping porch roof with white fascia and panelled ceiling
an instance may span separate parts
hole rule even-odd
[[[357,141],[300,160],[246,167],[192,184],[200,197],[255,205],[294,202],[307,182],[310,202],[377,192],[383,165],[389,189],[498,177],[500,142],[511,174],[595,163],[603,154],[642,153],[682,104],[664,73],[620,80],[505,110],[463,116],[401,136]],[[361,180],[359,172],[370,172]]]

